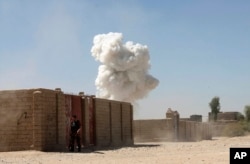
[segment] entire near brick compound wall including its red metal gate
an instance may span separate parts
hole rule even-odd
[[[67,151],[70,117],[81,121],[82,146],[124,146],[133,141],[133,107],[37,88],[0,91],[0,151]]]

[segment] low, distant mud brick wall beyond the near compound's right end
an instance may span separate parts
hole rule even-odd
[[[212,139],[209,123],[200,119],[180,119],[177,111],[168,109],[166,119],[135,120],[134,141],[200,141]]]

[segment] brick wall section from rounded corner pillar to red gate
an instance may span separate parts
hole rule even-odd
[[[32,94],[34,148],[43,151],[65,148],[64,94],[48,89],[39,89]]]

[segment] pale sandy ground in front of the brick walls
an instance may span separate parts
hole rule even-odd
[[[228,164],[230,147],[250,148],[250,135],[233,138],[218,137],[200,142],[135,143],[133,147],[84,150],[81,153],[0,152],[0,163]]]

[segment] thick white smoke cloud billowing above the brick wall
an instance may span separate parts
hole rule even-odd
[[[148,74],[148,47],[131,41],[123,44],[121,33],[96,35],[92,56],[101,62],[95,81],[97,97],[135,102],[144,98],[159,81]]]

